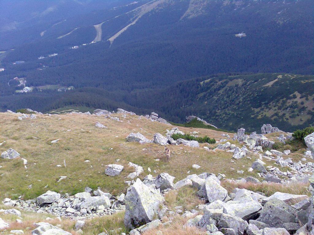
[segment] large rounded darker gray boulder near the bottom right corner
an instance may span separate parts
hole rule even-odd
[[[257,221],[269,224],[270,227],[283,227],[284,223],[296,223],[297,214],[293,207],[273,198],[265,204]]]

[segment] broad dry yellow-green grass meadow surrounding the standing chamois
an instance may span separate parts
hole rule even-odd
[[[176,177],[175,181],[185,178],[188,171],[190,174],[211,172],[237,177],[237,170],[245,170],[251,164],[247,159],[232,163],[231,153],[215,153],[183,145],[169,146],[172,152],[171,160],[165,161],[163,146],[127,143],[125,138],[130,132],[140,132],[152,139],[154,133],[165,135],[166,129],[173,126],[151,122],[146,118],[140,120],[138,116],[113,116],[121,118],[123,122],[78,114],[51,117],[38,115],[37,119],[19,121],[17,114],[0,113],[0,143],[6,141],[0,146],[0,152],[13,148],[28,160],[25,169],[20,158],[0,159],[0,175],[3,174],[0,176],[0,198],[17,198],[22,195],[24,199],[33,199],[47,190],[74,194],[83,191],[85,186],[93,189],[100,186],[104,191],[119,194],[125,191],[127,185],[124,181],[128,180],[128,173],[133,171],[127,167],[129,161],[143,166],[142,177],[149,174],[147,168],[150,167],[152,171],[157,171],[156,174],[152,173],[153,175],[167,172]],[[108,129],[96,128],[97,121]],[[199,128],[179,129],[186,133],[197,131],[200,136],[207,135],[217,140],[222,138],[223,133]],[[51,140],[55,139],[60,140],[51,144]],[[215,145],[208,146],[214,148]],[[105,175],[106,165],[116,163],[116,159],[120,159],[119,164],[126,166],[125,169],[119,176]],[[84,160],[90,162],[86,163]],[[195,170],[192,164],[198,164],[202,168]],[[57,183],[59,176],[67,178]]]

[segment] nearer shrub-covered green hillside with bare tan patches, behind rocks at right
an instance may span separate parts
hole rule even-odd
[[[229,130],[258,131],[264,123],[271,123],[288,131],[314,124],[314,76],[203,77],[127,99],[131,100],[129,104],[155,109],[175,122],[193,114]]]

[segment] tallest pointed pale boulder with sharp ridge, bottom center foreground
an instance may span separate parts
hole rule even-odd
[[[164,197],[157,190],[149,188],[137,179],[124,198],[124,225],[134,229],[153,221],[164,201]]]

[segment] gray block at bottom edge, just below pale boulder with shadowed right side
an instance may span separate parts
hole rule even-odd
[[[219,219],[218,228],[232,228],[236,235],[243,235],[248,223],[236,216],[223,213]]]

